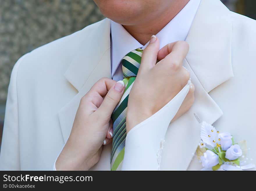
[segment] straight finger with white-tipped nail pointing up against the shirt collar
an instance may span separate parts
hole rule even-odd
[[[143,50],[141,65],[139,70],[150,69],[157,63],[157,53],[159,51],[159,39],[152,35],[147,47]]]

